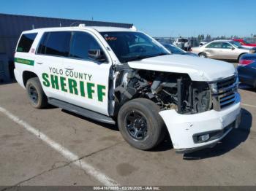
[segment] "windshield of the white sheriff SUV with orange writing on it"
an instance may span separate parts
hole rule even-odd
[[[100,34],[121,63],[170,54],[164,47],[154,42],[154,39],[140,32],[102,32]]]

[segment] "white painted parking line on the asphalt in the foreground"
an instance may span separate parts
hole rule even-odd
[[[106,176],[96,168],[94,168],[89,163],[86,163],[84,160],[79,160],[78,155],[75,155],[74,153],[70,152],[65,147],[61,146],[61,144],[57,143],[56,141],[53,141],[53,139],[50,139],[48,136],[46,136],[44,133],[42,133],[40,130],[33,128],[29,123],[20,120],[19,117],[16,117],[11,112],[7,111],[7,109],[4,109],[0,106],[0,112],[4,113],[9,117],[12,121],[18,123],[18,125],[22,126],[26,130],[28,130],[30,133],[33,133],[37,138],[44,141],[48,146],[55,149],[57,152],[59,152],[63,157],[65,157],[70,162],[73,162],[73,164],[77,165],[79,168],[82,168],[83,171],[86,171],[86,174],[89,174],[94,177],[94,179],[97,179],[99,182],[101,182],[104,185],[107,186],[117,186],[118,183],[114,181],[113,179],[110,179],[110,177]]]

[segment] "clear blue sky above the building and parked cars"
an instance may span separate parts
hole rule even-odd
[[[256,34],[256,0],[2,0],[0,12],[133,23],[151,36]]]

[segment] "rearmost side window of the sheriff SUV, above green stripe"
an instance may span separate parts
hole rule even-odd
[[[37,33],[23,34],[18,43],[17,52],[29,52]]]

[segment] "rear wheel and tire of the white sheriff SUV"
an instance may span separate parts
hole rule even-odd
[[[42,90],[38,77],[33,77],[26,82],[26,92],[31,106],[42,109],[48,106],[48,98]]]

